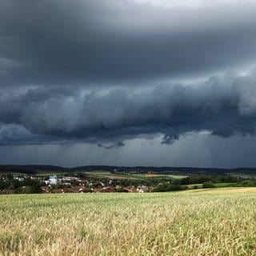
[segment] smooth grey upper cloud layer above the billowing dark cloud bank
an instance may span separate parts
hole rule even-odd
[[[255,58],[252,2],[200,8],[140,2],[2,0],[0,86],[131,85]]]

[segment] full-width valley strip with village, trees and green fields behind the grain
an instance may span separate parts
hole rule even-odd
[[[147,193],[226,186],[256,186],[256,179],[246,174],[0,173],[0,194]]]

